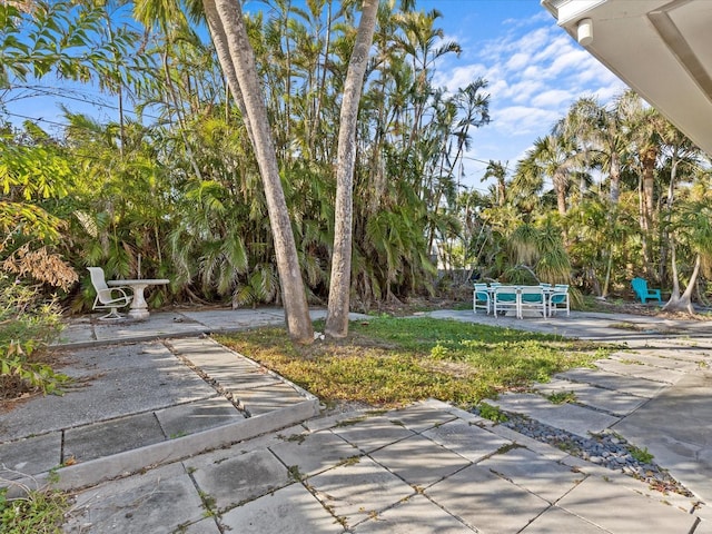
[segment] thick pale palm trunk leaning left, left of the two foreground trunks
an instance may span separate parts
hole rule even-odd
[[[228,53],[226,55],[226,50],[222,49],[218,52],[218,59],[228,81],[230,72],[235,72],[245,105],[247,123],[251,128],[253,148],[265,188],[267,211],[275,243],[287,329],[296,342],[312,343],[314,342],[314,329],[304,290],[297,247],[279,179],[277,155],[255,67],[255,53],[245,29],[240,2],[238,0],[204,0],[202,3],[206,14],[211,12],[217,16],[214,19],[216,26],[211,28],[218,34],[225,36],[228,47]]]

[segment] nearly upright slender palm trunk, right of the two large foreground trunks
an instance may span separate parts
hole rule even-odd
[[[338,131],[336,160],[336,206],[334,221],[334,255],[326,334],[345,337],[348,334],[348,310],[352,275],[352,240],[354,211],[354,165],[356,159],[356,125],[358,103],[373,43],[378,0],[364,0],[356,43],[348,62]]]

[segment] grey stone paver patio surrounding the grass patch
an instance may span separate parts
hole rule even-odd
[[[433,315],[625,343],[595,369],[496,403],[580,436],[614,429],[694,495],[663,494],[437,400],[320,417],[307,392],[202,337],[279,324],[275,309],[70,328],[70,368],[91,386],[3,414],[0,463],[16,469],[3,476],[41,484],[70,456],[76,465],[57,471],[58,487],[78,491],[65,531],[82,534],[712,532],[706,325]],[[568,390],[575,404],[545,398]]]

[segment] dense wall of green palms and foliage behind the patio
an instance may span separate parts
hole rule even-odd
[[[26,3],[0,3],[0,88],[55,75],[93,79],[138,116],[101,123],[67,112],[58,139],[32,125],[4,132],[0,235],[8,239],[0,259],[28,241],[28,251],[49,244],[78,271],[101,265],[109,277],[135,277],[140,257],[144,277],[171,279],[169,288],[149,293],[150,306],[279,303],[247,129],[214,47],[181,6],[134,6],[149,29],[139,34],[130,23],[112,26],[130,17],[130,4],[44,0],[20,11]],[[248,14],[247,29],[307,293],[323,303],[340,93],[358,3],[337,11],[330,2],[266,4],[269,14]],[[448,269],[622,298],[632,273],[660,277],[661,287],[672,281],[671,244],[681,280],[698,254],[702,275],[712,276],[709,162],[634,95],[606,107],[575,102],[551,135],[512,162],[513,174],[507,162],[491,161],[490,190],[464,188],[463,158],[473,131],[490,121],[490,95],[484,79],[455,91],[435,86],[437,60],[462,50],[441,40],[438,18],[386,4],[378,13],[377,59],[366,75],[356,135],[355,309],[434,293],[435,249]],[[0,91],[0,110],[10,93]],[[141,121],[145,110],[157,116],[150,126]],[[659,214],[646,217],[639,214],[647,194],[639,182],[651,169],[641,146],[659,156],[650,172],[650,205]],[[86,309],[89,295],[85,284],[72,307]],[[574,287],[571,295],[578,295]]]

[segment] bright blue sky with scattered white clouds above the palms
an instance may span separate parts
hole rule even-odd
[[[246,6],[264,4],[249,0]],[[512,171],[534,140],[547,135],[578,98],[592,96],[606,103],[626,88],[558,28],[538,0],[417,0],[416,6],[437,9],[442,18],[436,26],[443,28],[444,41],[462,47],[458,57],[447,55],[437,65],[434,83],[449,91],[481,77],[488,83],[491,122],[472,134],[463,165],[466,187],[487,190],[488,184],[481,179],[488,160],[507,162]],[[23,99],[8,108],[44,120],[61,120],[59,103],[88,112],[77,100],[82,91],[65,95],[70,99]],[[105,100],[108,106],[93,108],[93,115],[113,120],[116,102]]]

